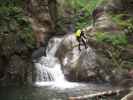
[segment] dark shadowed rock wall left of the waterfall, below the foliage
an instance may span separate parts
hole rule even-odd
[[[31,51],[16,33],[8,33],[1,42],[0,81],[2,84],[31,82]]]

